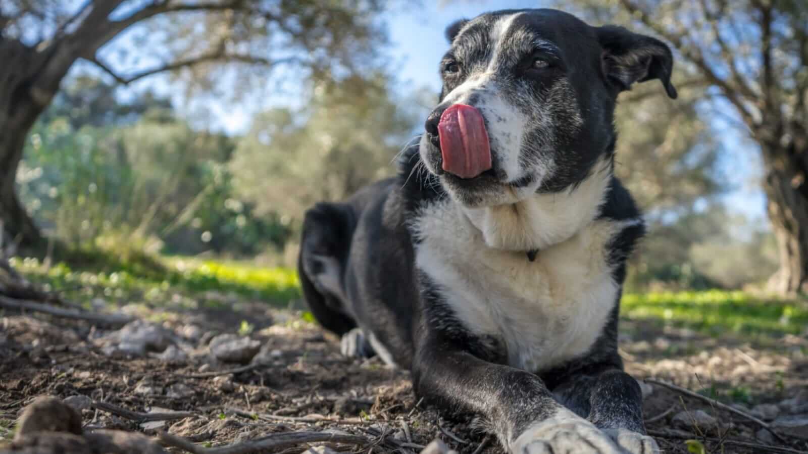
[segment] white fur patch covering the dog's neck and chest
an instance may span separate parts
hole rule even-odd
[[[540,372],[579,357],[608,321],[618,285],[607,246],[640,221],[592,221],[604,191],[596,175],[557,200],[535,195],[520,203],[531,208],[481,208],[478,223],[444,200],[413,225],[419,269],[467,329],[503,343],[513,367]],[[545,247],[529,262],[521,244]]]

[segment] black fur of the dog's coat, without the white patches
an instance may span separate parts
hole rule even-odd
[[[414,223],[427,216],[424,208],[438,203],[484,207],[490,194],[503,191],[502,187],[510,185],[516,191],[535,187],[532,185],[540,179],[534,194],[569,193],[595,172],[608,172],[604,174],[608,178],[606,193],[595,220],[621,225],[605,246],[615,283],[621,285],[625,280],[626,259],[644,233],[629,191],[611,174],[617,140],[612,120],[618,93],[632,82],[659,78],[668,95],[675,97],[670,83],[671,53],[658,40],[619,27],[589,27],[571,15],[549,10],[501,11],[455,23],[446,33],[452,49],[442,67],[461,61],[465,65],[461,71],[468,74],[444,74],[443,102],[431,119],[457,102],[443,98],[464,83],[474,65],[482,67],[492,58],[490,30],[494,23],[516,12],[525,14],[513,21],[509,35],[500,36],[507,42],[502,52],[512,51],[514,57],[501,57],[510,58],[505,60],[510,63],[497,69],[502,93],[496,95],[528,120],[536,120],[529,118],[537,115],[533,111],[536,99],[568,101],[553,107],[556,110],[542,111],[541,115],[550,115],[553,121],[524,132],[522,143],[535,146],[518,150],[521,170],[543,157],[536,153],[554,153],[553,171],[528,172],[510,183],[503,183],[505,170],[496,168],[468,180],[445,174],[438,170],[436,122],[427,120],[426,137],[399,158],[397,178],[376,183],[342,204],[318,204],[307,212],[299,267],[305,298],[327,329],[344,334],[359,326],[365,337],[376,339],[375,347],[385,348],[395,364],[412,372],[420,397],[447,414],[481,415],[507,448],[528,427],[560,414],[565,407],[604,431],[644,434],[642,395],[636,380],[622,371],[617,353],[621,289],[611,309],[606,309],[608,321],[584,355],[551,368],[522,370],[508,364],[507,346],[500,338],[474,334],[479,330],[467,326],[448,303],[448,289],[436,284],[430,270],[416,265],[416,250],[424,243],[423,232]],[[524,44],[520,40],[535,42],[539,38],[550,43],[542,44],[546,49],[542,52],[555,54],[558,62],[553,68],[558,69],[525,76],[511,66],[520,65],[522,57],[517,53]],[[630,53],[638,54],[627,58]],[[551,92],[568,98],[553,98]],[[474,105],[478,99],[469,95],[465,102]],[[482,113],[486,128],[498,121],[494,111]],[[579,126],[570,127],[570,122]],[[492,146],[492,153],[495,151]],[[595,168],[599,162],[607,165]],[[533,258],[542,254],[532,248],[524,252],[528,257],[535,252]],[[330,263],[337,264],[328,266],[338,269],[318,269],[322,255],[335,258]],[[524,267],[534,266],[528,257]],[[318,290],[326,271],[339,275],[340,288],[335,294]],[[556,441],[547,443],[552,448]],[[580,443],[590,445],[592,441],[583,437]]]

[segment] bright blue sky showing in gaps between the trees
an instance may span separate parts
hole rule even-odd
[[[398,92],[411,93],[419,87],[427,86],[435,93],[440,90],[438,77],[438,62],[448,48],[444,37],[444,29],[456,19],[470,18],[485,11],[505,8],[541,7],[546,2],[512,0],[494,2],[491,0],[454,0],[446,2],[437,0],[423,0],[423,5],[415,9],[392,11],[386,15],[389,25],[389,38],[391,47],[389,57],[393,65],[393,73],[400,81]],[[130,34],[119,38],[119,42],[111,48],[134,46]],[[124,43],[120,43],[120,40]],[[143,59],[138,65],[149,67],[157,62]],[[134,68],[137,69],[137,66]],[[183,105],[183,98],[178,95],[179,87],[171,86],[165,77],[146,78],[138,82],[133,92],[149,88],[166,95],[174,95],[175,101],[180,104],[189,117],[195,116],[195,109],[199,104]],[[279,94],[276,91],[267,96],[253,96],[243,99],[239,103],[222,103],[216,98],[206,97],[198,103],[204,104],[204,110],[209,112],[206,124],[213,128],[222,129],[229,133],[240,133],[250,127],[250,119],[267,107],[291,104],[294,105],[300,97],[296,96],[297,89],[294,84],[287,85],[286,91]],[[184,106],[184,107],[183,107]],[[728,112],[730,109],[727,110]],[[721,141],[724,149],[733,150],[725,153],[721,160],[722,174],[732,179],[729,183],[735,189],[722,197],[725,203],[736,212],[742,212],[755,221],[765,222],[764,196],[758,185],[754,183],[759,178],[761,168],[760,158],[754,145],[743,138],[743,133],[722,124],[720,120],[713,122],[713,128],[721,132]],[[619,147],[619,145],[618,145]],[[619,153],[619,151],[618,151]]]

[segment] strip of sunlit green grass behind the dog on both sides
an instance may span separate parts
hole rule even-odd
[[[119,303],[187,299],[189,304],[226,307],[237,298],[288,305],[301,298],[297,273],[289,268],[256,267],[184,257],[158,257],[126,250],[72,251],[71,265],[46,268],[36,259],[14,259],[31,280],[70,300],[87,303],[100,296]],[[221,296],[221,297],[217,297]],[[182,301],[180,301],[182,303]],[[648,292],[626,294],[622,317],[682,326],[706,334],[802,334],[808,326],[806,301],[762,298],[744,292]],[[250,330],[250,326],[242,326]]]

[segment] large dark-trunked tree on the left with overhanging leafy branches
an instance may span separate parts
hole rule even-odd
[[[77,7],[78,6],[78,7]],[[41,235],[15,191],[28,132],[62,79],[88,61],[120,84],[191,69],[205,80],[234,62],[328,79],[368,69],[385,42],[381,0],[2,0],[0,2],[0,222],[23,243]],[[135,47],[158,65],[120,74],[108,58],[116,36],[137,24],[159,25]],[[109,44],[109,45],[107,45]],[[123,49],[120,49],[123,50]],[[266,75],[266,72],[263,72]],[[263,78],[266,80],[266,78]]]

